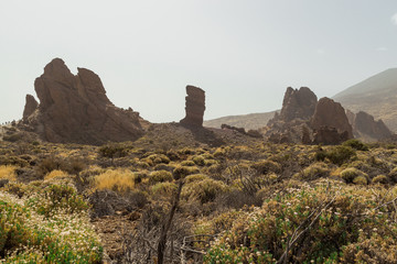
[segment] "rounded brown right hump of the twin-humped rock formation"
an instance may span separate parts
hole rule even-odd
[[[353,129],[344,108],[341,103],[326,97],[319,100],[311,121],[311,128],[314,130],[319,131],[323,127],[335,128],[340,134],[346,131],[347,139],[353,139]]]

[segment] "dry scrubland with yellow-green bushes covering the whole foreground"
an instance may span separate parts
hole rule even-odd
[[[0,142],[0,262],[396,263],[396,183],[356,140]]]

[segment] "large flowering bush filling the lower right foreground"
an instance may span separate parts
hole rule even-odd
[[[371,190],[341,189],[336,182],[290,189],[235,221],[212,245],[205,263],[337,263],[352,252],[372,257],[377,249],[390,252],[397,224],[387,215],[394,209],[378,207],[374,199]],[[378,241],[371,246],[375,251],[350,246],[368,238]],[[396,254],[377,256],[378,263],[397,261]]]

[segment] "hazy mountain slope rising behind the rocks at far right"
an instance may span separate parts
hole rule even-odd
[[[397,131],[397,68],[372,76],[333,97],[353,112],[365,111]]]

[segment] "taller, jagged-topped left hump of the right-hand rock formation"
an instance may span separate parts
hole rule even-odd
[[[289,122],[294,119],[310,119],[315,110],[318,98],[308,87],[298,89],[287,88],[282,101],[280,119]]]

